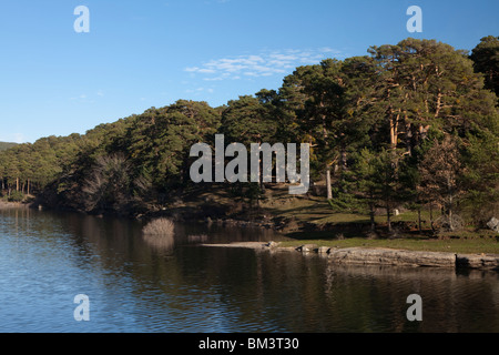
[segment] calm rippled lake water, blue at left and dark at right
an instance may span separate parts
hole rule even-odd
[[[0,211],[0,332],[499,332],[499,274],[334,266],[318,255],[203,247],[271,232]],[[73,317],[74,296],[90,321]],[[422,298],[422,322],[406,317]]]

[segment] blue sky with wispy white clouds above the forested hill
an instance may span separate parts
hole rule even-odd
[[[499,36],[497,0],[0,0],[0,141],[84,133],[179,99],[216,106],[294,68],[437,39]],[[77,33],[78,6],[90,32]],[[407,8],[422,9],[409,33]]]

